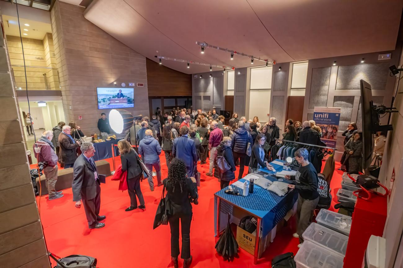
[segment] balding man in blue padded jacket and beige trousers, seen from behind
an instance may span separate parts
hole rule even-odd
[[[152,130],[145,130],[145,136],[139,144],[139,155],[141,155],[141,159],[143,160],[147,169],[152,171],[152,168],[154,167],[157,173],[157,186],[161,186],[161,163],[159,157],[161,154],[161,146],[158,140],[154,138],[152,134]],[[148,177],[148,184],[150,185],[150,190],[154,191],[152,172],[150,172],[150,176]]]

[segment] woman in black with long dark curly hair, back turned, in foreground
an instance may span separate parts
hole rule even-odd
[[[168,177],[163,183],[167,191],[166,209],[171,229],[171,257],[175,268],[178,267],[179,256],[179,219],[181,219],[183,267],[190,267],[190,223],[192,205],[189,199],[197,199],[197,186],[194,177],[187,177],[185,162],[174,158],[168,167]]]

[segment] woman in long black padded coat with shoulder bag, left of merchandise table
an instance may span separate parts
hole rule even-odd
[[[232,155],[231,142],[232,140],[230,137],[224,137],[222,138],[222,142],[220,143],[220,145],[218,145],[217,147],[217,156],[224,157],[225,161],[227,161],[228,165],[230,165],[231,167],[231,169],[225,171],[224,173],[220,172],[221,189],[229,186],[229,182],[235,179],[234,171],[236,170],[236,167],[234,163],[234,157]]]

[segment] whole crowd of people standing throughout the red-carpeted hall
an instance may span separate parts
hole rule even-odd
[[[168,192],[168,221],[171,229],[171,257],[174,267],[178,267],[179,220],[182,230],[181,257],[184,259],[184,267],[189,267],[192,260],[190,255],[191,202],[198,197],[195,179],[198,165],[208,165],[209,171],[206,175],[217,177],[220,181],[220,189],[223,189],[235,180],[236,166],[239,166],[238,179],[244,176],[245,166],[247,166],[246,173],[259,168],[274,171],[270,161],[276,159],[277,152],[274,146],[278,144],[278,139],[283,142],[298,141],[304,144],[326,146],[320,140],[321,136],[336,136],[332,134],[333,127],[327,128],[324,132],[323,128],[316,126],[313,120],[301,123],[288,119],[285,123],[285,131],[281,133],[276,125],[276,118],[270,118],[268,122],[262,124],[257,116],[246,120],[245,117],[238,118],[238,114],[233,113],[228,125],[225,125],[224,117],[218,115],[216,109],[208,112],[199,109],[193,114],[191,109],[177,107],[162,115],[158,108],[151,118],[150,120],[145,116],[135,121],[126,138],[118,142],[122,162],[121,171],[127,172],[125,179],[130,198],[130,206],[125,210],[145,209],[140,187],[143,174],[139,163],[139,157],[141,157],[147,169],[155,169],[157,187],[164,186]],[[100,131],[109,129],[105,114],[102,114],[102,118],[98,121],[98,128]],[[335,132],[337,133],[337,128]],[[381,133],[379,143],[384,141],[382,135],[386,136]],[[101,221],[106,218],[99,215],[100,175],[92,159],[95,153],[93,144],[82,141],[83,136],[83,132],[75,122],[70,122],[68,125],[59,122],[52,131],[45,131],[34,145],[34,150],[37,146],[41,148],[39,153],[35,151],[35,157],[38,162],[46,163],[43,171],[46,176],[49,200],[63,196],[61,191],[56,192],[54,189],[57,180],[57,162],[59,161],[64,168],[74,168],[73,201],[77,208],[83,204],[89,228],[98,229],[105,226]],[[343,132],[343,136],[345,136],[345,153],[342,168],[346,168],[351,173],[357,173],[362,168],[360,166],[362,134],[357,131],[356,124],[351,122],[347,130]],[[138,153],[132,145],[137,145]],[[162,151],[168,166],[168,176],[164,180],[162,180],[159,157]],[[293,236],[302,242],[301,235],[312,221],[313,211],[319,201],[318,171],[310,163],[310,153],[306,148],[293,150],[293,154],[301,167],[295,176],[286,178],[295,181],[294,184],[289,184],[289,188],[299,193],[297,233]],[[220,164],[224,163],[223,161],[226,165]],[[150,174],[147,180],[150,190],[154,191],[153,176]],[[137,205],[137,198],[139,205]]]

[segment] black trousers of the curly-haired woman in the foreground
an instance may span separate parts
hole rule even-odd
[[[192,221],[192,215],[184,215],[178,213],[169,216],[169,227],[171,229],[171,256],[178,258],[179,256],[179,219],[181,219],[181,231],[182,231],[182,259],[190,258],[190,223]]]

